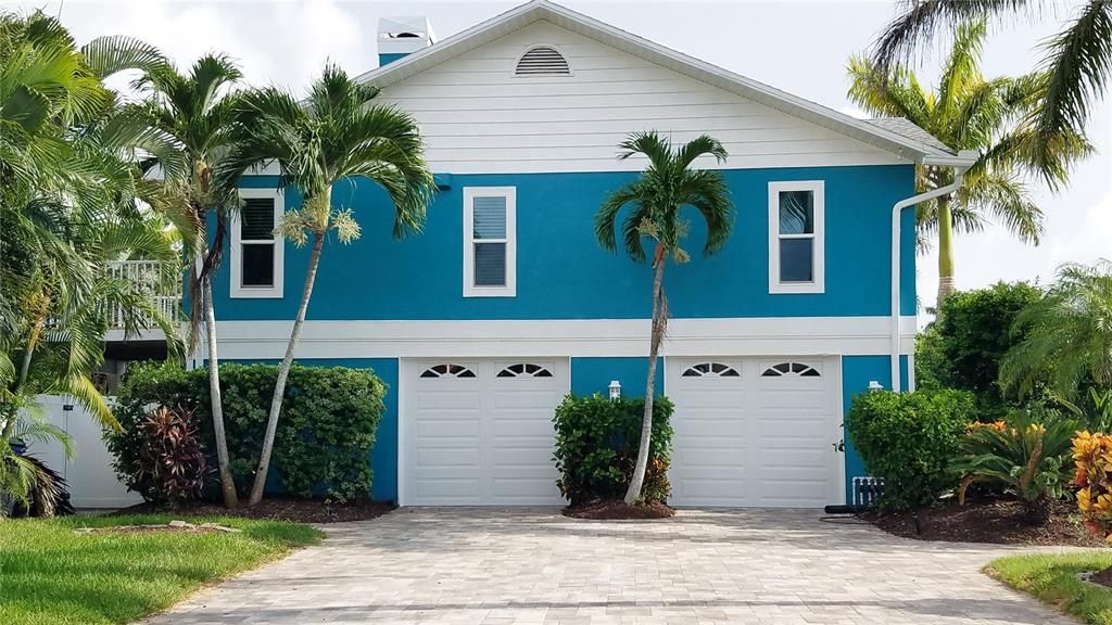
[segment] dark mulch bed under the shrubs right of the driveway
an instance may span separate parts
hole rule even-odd
[[[1073,502],[1055,502],[1051,507],[1050,520],[1043,525],[1026,522],[1022,504],[1014,499],[966,500],[964,506],[951,500],[936,508],[914,513],[868,512],[861,517],[885,532],[919,540],[1108,546],[1081,525],[1078,507]]]

